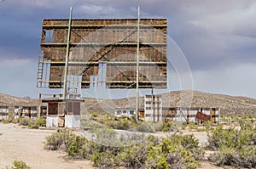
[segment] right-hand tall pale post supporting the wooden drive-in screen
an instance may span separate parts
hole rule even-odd
[[[139,117],[139,51],[140,51],[140,7],[137,7],[137,69],[136,69],[136,121]]]

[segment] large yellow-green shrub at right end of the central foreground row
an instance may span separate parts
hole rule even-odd
[[[183,142],[187,140],[187,142]],[[189,141],[195,142],[195,144]],[[196,142],[197,141],[197,142]],[[184,144],[189,143],[189,147]],[[198,140],[186,136],[171,136],[170,138],[155,138],[148,136],[139,144],[133,144],[119,154],[121,166],[128,168],[196,168],[192,149],[198,149]],[[193,146],[192,146],[193,145]],[[202,156],[202,155],[201,155]]]

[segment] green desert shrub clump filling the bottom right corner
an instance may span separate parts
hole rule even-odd
[[[240,125],[240,130],[217,127],[208,133],[208,148],[218,150],[209,156],[210,161],[218,166],[256,166],[256,129],[243,122]]]

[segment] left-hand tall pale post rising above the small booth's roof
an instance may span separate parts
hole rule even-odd
[[[70,43],[71,21],[72,21],[72,7],[70,7],[69,21],[68,21],[66,62],[65,62],[65,70],[64,70],[64,80],[63,80],[64,81],[63,99],[66,99],[66,95],[67,95],[67,72],[68,72],[68,58],[69,58],[69,43]]]

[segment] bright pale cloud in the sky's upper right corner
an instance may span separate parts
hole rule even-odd
[[[250,3],[251,2],[251,3]],[[224,8],[221,6],[224,5]],[[214,6],[214,5],[213,5]],[[251,34],[256,36],[256,3],[252,1],[223,2],[215,8],[204,14],[198,14],[196,20],[190,20],[189,23],[204,27],[208,31],[225,34]],[[201,11],[201,10],[199,10]]]

